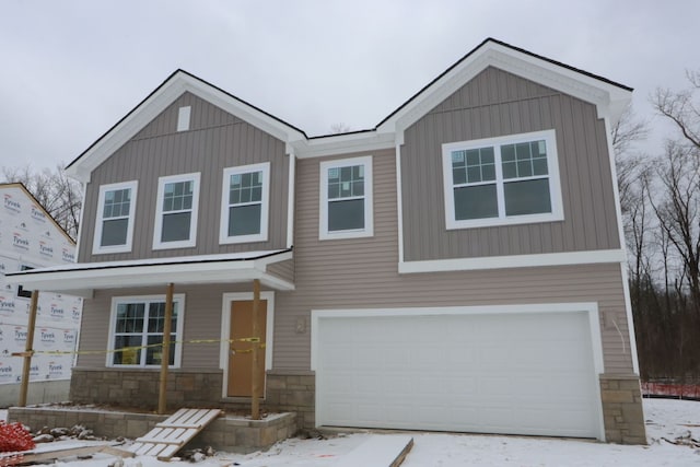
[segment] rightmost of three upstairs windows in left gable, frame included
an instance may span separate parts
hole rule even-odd
[[[270,163],[223,171],[220,243],[266,242]]]

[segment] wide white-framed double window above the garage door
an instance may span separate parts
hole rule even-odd
[[[443,144],[447,229],[563,219],[555,130]]]

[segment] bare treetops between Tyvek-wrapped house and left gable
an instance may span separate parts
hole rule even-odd
[[[2,167],[0,176],[5,183],[22,183],[73,240],[78,237],[82,187],[66,176],[62,165],[55,171],[35,171],[31,165]]]

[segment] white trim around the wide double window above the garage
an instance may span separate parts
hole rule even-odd
[[[518,142],[529,142],[534,140],[545,140],[547,144],[547,167],[549,178],[549,196],[551,199],[551,213],[505,215],[503,196],[503,173],[501,167],[500,145]],[[498,218],[456,220],[454,184],[452,178],[452,152],[457,150],[468,150],[476,148],[493,147],[495,157],[495,187],[499,203]],[[445,143],[442,145],[442,168],[443,188],[445,199],[445,223],[447,230],[483,227],[495,225],[529,224],[537,222],[555,222],[563,220],[563,208],[561,201],[561,185],[559,182],[559,157],[557,154],[557,135],[555,130],[534,131],[529,133],[509,135],[498,138],[486,138],[471,141],[460,141]]]

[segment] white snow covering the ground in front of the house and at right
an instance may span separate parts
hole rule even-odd
[[[0,410],[0,420],[7,412]],[[700,448],[674,445],[692,437],[700,440],[700,401],[644,399],[649,446],[622,446],[590,441],[526,436],[491,436],[415,432],[413,448],[402,467],[459,466],[700,466]],[[308,466],[330,467],[371,436],[370,433],[340,434],[327,440],[291,439],[265,453],[248,455],[218,453],[196,464],[201,467]],[[387,436],[390,436],[388,434]],[[665,441],[665,440],[668,441]],[[116,458],[104,454],[92,459],[61,459],[55,466],[106,467]],[[140,456],[125,459],[125,467],[191,466],[186,462],[163,463]]]

